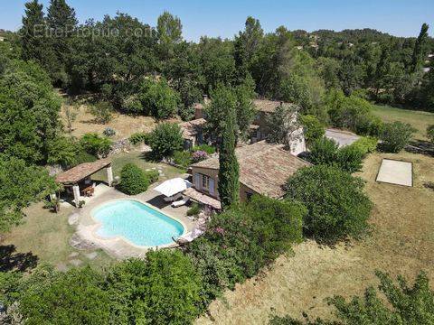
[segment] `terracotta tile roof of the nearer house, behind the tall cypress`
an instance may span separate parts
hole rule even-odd
[[[288,177],[311,165],[284,150],[282,145],[264,141],[237,148],[235,153],[240,164],[240,182],[271,198],[282,197]],[[192,167],[219,169],[219,158],[212,157]]]

